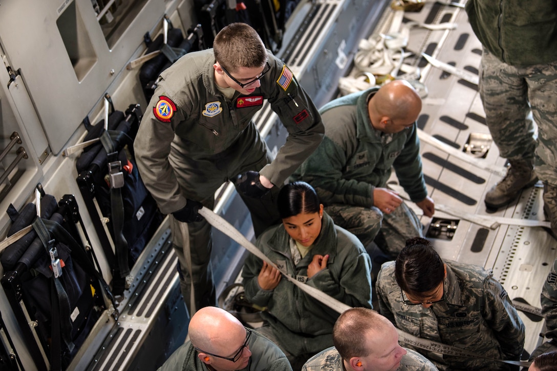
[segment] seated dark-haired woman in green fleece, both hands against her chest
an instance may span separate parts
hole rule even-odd
[[[335,226],[306,182],[278,194],[282,224],[267,229],[257,247],[285,274],[350,306],[372,308],[371,260],[353,234]],[[333,345],[339,313],[321,304],[281,272],[250,254],[242,272],[246,298],[266,307],[257,329],[285,352],[295,370]]]

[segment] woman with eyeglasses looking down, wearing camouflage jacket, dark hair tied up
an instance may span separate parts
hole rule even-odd
[[[519,360],[524,324],[491,270],[443,261],[423,238],[406,241],[377,279],[380,313],[406,333],[468,350],[484,358],[419,349],[439,370],[510,370],[493,359]]]

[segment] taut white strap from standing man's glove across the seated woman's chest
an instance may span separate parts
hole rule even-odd
[[[223,217],[215,214],[212,210],[207,209],[207,207],[202,207],[199,210],[199,215],[203,216],[209,224],[216,227],[222,233],[229,236],[229,238],[236,241],[238,244],[242,245],[246,248],[250,253],[257,256],[263,261],[266,261],[267,264],[271,265],[273,268],[277,269],[282,273],[283,276],[286,277],[289,281],[294,283],[298,286],[302,291],[305,291],[307,294],[311,295],[312,298],[315,298],[321,303],[325,304],[329,308],[337,311],[338,313],[343,313],[346,309],[350,309],[351,306],[341,303],[340,301],[336,300],[332,296],[325,294],[323,291],[314,288],[313,286],[306,285],[305,283],[301,283],[297,281],[295,278],[292,278],[288,273],[283,270],[278,269],[275,263],[273,263],[265,254],[263,254],[259,249],[256,248],[245,236],[243,236],[236,228],[234,228],[228,221],[223,219]]]

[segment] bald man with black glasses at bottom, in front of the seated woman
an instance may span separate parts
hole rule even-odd
[[[159,371],[292,371],[275,343],[243,327],[226,310],[200,309],[189,322],[188,334],[189,340]]]

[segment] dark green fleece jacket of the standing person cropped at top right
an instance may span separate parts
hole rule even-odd
[[[557,2],[469,0],[466,13],[478,39],[500,61],[511,66],[557,61]]]

